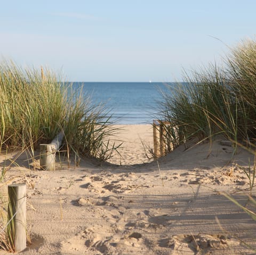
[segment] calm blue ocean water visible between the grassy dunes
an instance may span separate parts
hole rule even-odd
[[[175,83],[168,83],[174,85]],[[156,118],[159,89],[166,83],[73,83],[83,86],[93,104],[104,103],[117,124],[148,124]]]

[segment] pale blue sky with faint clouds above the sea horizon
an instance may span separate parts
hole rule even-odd
[[[0,60],[69,81],[181,81],[255,39],[254,0],[0,0]]]

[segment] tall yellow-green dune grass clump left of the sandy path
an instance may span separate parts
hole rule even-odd
[[[106,160],[115,133],[106,109],[94,106],[83,88],[78,91],[61,76],[46,70],[0,64],[0,152],[31,149],[49,143],[60,131],[68,151]]]

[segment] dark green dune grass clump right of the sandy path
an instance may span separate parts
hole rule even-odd
[[[217,134],[236,142],[256,137],[256,42],[231,50],[223,66],[185,74],[185,83],[163,93],[160,115],[178,128],[180,144]]]

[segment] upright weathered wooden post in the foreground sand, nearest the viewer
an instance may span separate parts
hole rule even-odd
[[[8,185],[7,239],[15,252],[26,249],[26,183]],[[14,216],[14,217],[13,217]]]

